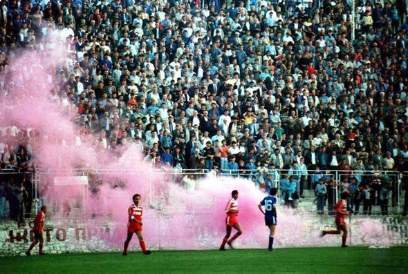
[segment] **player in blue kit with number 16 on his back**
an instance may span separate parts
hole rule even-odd
[[[275,236],[275,229],[277,225],[277,198],[278,193],[277,188],[270,188],[269,194],[267,197],[259,203],[258,208],[263,215],[265,215],[265,224],[270,229],[269,234],[269,245],[268,251],[273,251],[273,239]],[[265,206],[265,211],[263,211],[262,206]]]

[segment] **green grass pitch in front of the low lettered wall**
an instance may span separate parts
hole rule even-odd
[[[37,252],[37,248],[33,253]],[[0,273],[408,273],[408,247],[277,248],[0,257]]]

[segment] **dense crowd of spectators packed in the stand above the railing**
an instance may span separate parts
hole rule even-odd
[[[408,170],[403,0],[356,1],[353,41],[346,0],[0,6],[1,89],[12,88],[10,53],[65,45],[71,62],[49,99],[76,106],[79,138],[114,155],[136,143],[154,166],[215,169],[263,188],[284,169],[300,196],[319,181],[311,170],[343,170],[363,187],[377,184],[375,170]],[[24,170],[27,133],[10,125],[0,143],[1,165]]]

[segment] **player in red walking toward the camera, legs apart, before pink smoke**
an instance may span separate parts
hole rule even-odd
[[[128,213],[129,213],[129,222],[127,224],[127,238],[124,241],[124,248],[122,255],[127,255],[127,248],[129,246],[129,242],[132,239],[133,233],[136,233],[139,238],[140,247],[142,248],[143,254],[149,255],[151,252],[146,250],[145,241],[143,240],[143,223],[142,223],[142,215],[143,215],[143,208],[139,206],[141,196],[139,194],[133,195],[133,204],[129,206]]]

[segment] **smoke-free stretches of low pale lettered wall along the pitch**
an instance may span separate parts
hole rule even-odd
[[[185,218],[185,216],[180,216],[181,218]],[[324,238],[318,237],[319,232],[323,228],[333,228],[332,217],[306,215],[302,216],[302,218],[306,224],[306,230],[308,230],[304,231],[304,235],[310,236],[310,239],[307,239],[308,236],[306,236],[306,239],[302,237],[301,240],[296,241],[290,235],[286,235],[285,227],[278,226],[277,235],[275,236],[278,248],[285,246],[339,246],[340,236],[328,235]],[[158,222],[162,226],[161,229],[148,228],[150,233],[145,231],[145,235],[148,235],[148,239],[146,236],[145,239],[147,239],[149,248],[178,248],[173,244],[178,241],[178,235],[166,233],[165,219],[156,219],[152,224],[156,226]],[[120,237],[115,235],[117,234],[115,231],[116,224],[110,222],[109,219],[99,219],[95,223],[98,225],[90,226],[88,221],[87,227],[85,227],[84,222],[80,219],[53,219],[52,221],[48,219],[44,231],[44,251],[46,253],[121,251],[124,235],[122,235],[123,233],[119,235]],[[263,224],[259,225],[262,226]],[[32,226],[32,222],[18,224],[12,221],[0,222],[0,256],[24,255],[24,251],[28,248],[30,242],[33,241]],[[194,238],[199,243],[197,246],[192,246],[193,249],[217,248],[224,233],[224,231],[219,231],[217,235],[208,235],[205,229],[194,227],[192,231],[196,232]],[[391,246],[408,244],[407,231],[407,218],[402,217],[371,217],[370,219],[353,217],[351,224],[353,245]],[[256,239],[248,239],[248,236],[245,239],[245,234],[240,241],[240,247],[263,247],[263,242],[257,242]],[[133,241],[133,250],[138,250],[136,237]],[[37,253],[37,251],[38,248],[35,248],[33,254]]]

